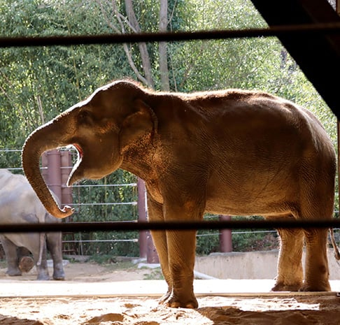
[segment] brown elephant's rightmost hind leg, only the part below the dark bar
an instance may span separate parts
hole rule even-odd
[[[328,229],[305,231],[306,264],[304,285],[301,291],[330,291],[327,260]]]

